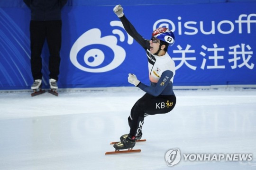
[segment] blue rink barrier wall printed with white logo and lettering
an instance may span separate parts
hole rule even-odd
[[[256,2],[123,7],[146,39],[157,27],[174,32],[174,86],[256,84]],[[146,53],[112,9],[64,7],[59,88],[131,86],[128,73],[149,84]],[[26,7],[0,8],[0,89],[30,89],[29,22]],[[45,44],[44,87],[48,55]]]

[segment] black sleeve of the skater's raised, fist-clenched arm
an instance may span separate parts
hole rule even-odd
[[[140,44],[145,50],[149,49],[149,40],[146,40],[145,38],[143,38],[137,31],[136,29],[133,27],[133,25],[130,23],[130,21],[128,21],[128,19],[123,16],[120,18],[126,32],[133,37],[138,44]]]

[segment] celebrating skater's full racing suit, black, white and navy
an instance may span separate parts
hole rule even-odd
[[[132,137],[141,134],[144,117],[168,113],[174,108],[176,104],[173,91],[175,63],[167,53],[163,56],[150,54],[149,40],[139,35],[125,16],[121,17],[120,20],[128,34],[145,49],[151,82],[151,86],[146,86],[141,82],[137,86],[146,94],[135,103],[128,117],[129,135]]]

